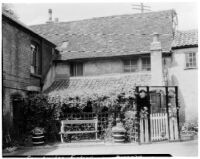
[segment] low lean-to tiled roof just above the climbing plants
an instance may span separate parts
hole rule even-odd
[[[145,73],[124,73],[104,76],[71,77],[70,79],[55,80],[45,90],[51,95],[84,94],[116,91],[119,89],[130,89],[134,86],[149,85],[151,74]]]

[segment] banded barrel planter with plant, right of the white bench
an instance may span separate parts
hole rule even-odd
[[[117,121],[117,125],[112,128],[112,136],[115,143],[124,143],[125,141],[125,132],[126,130],[123,127],[123,124]]]

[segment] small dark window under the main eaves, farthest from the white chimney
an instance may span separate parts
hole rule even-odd
[[[83,63],[72,63],[70,65],[71,76],[83,76]]]

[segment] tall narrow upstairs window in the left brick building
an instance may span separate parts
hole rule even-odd
[[[39,64],[40,64],[40,58],[39,58],[39,46],[36,43],[31,44],[31,73],[32,74],[39,74]]]

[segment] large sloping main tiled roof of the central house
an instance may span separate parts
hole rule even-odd
[[[160,34],[163,51],[171,49],[174,10],[118,15],[31,26],[54,42],[61,60],[112,57],[150,51],[152,34]]]

